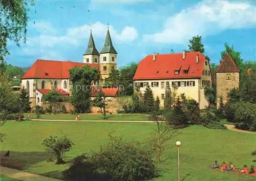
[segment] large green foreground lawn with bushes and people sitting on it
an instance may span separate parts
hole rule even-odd
[[[1,155],[10,150],[11,156],[9,164],[2,164],[61,179],[61,171],[68,168],[68,165],[47,162],[48,157],[41,146],[42,139],[49,135],[67,135],[73,140],[75,146],[66,154],[66,160],[69,160],[82,152],[99,150],[99,145],[108,141],[107,135],[111,131],[115,131],[115,136],[126,140],[144,141],[152,137],[154,130],[153,123],[7,122],[1,127],[1,131],[7,134],[6,140],[0,143]],[[252,165],[254,158],[250,153],[255,149],[254,134],[190,126],[182,129],[170,143],[174,145],[176,140],[182,143],[181,179],[189,174],[185,181],[256,179],[248,175],[208,169],[208,165],[215,160],[231,161],[237,168],[242,168],[244,164]],[[166,149],[163,158],[167,156],[169,159],[159,165],[162,170],[161,177],[155,178],[154,181],[177,179],[177,148],[170,146]]]

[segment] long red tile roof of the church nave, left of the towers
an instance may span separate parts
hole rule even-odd
[[[46,78],[46,79],[68,79],[69,70],[75,66],[89,65],[99,69],[99,64],[55,61],[55,60],[36,60],[22,79]]]

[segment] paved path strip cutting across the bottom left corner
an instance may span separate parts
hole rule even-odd
[[[11,178],[16,178],[19,180],[24,180],[24,181],[39,181],[39,180],[40,181],[61,181],[59,179],[36,175],[36,174],[32,174],[32,173],[12,169],[12,168],[7,168],[3,166],[0,166],[0,173],[2,175],[5,175]]]

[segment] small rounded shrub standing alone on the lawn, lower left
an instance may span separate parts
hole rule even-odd
[[[54,154],[56,156],[56,164],[65,164],[63,161],[63,155],[72,149],[74,145],[73,142],[67,137],[52,137],[46,138],[42,141],[42,145],[48,153]]]

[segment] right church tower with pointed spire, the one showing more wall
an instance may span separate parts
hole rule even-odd
[[[108,28],[104,47],[100,52],[100,74],[103,80],[109,77],[111,70],[117,70],[117,52],[113,47]]]

